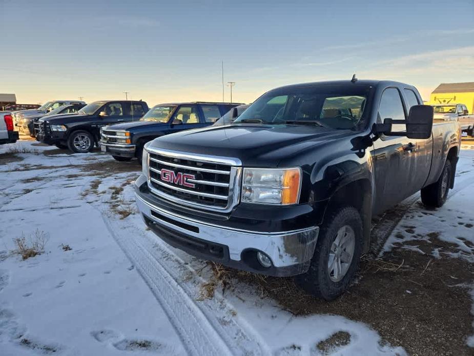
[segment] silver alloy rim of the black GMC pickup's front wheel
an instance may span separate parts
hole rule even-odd
[[[351,267],[355,247],[356,234],[353,228],[342,226],[334,236],[327,260],[327,272],[331,281],[339,282],[344,278]]]

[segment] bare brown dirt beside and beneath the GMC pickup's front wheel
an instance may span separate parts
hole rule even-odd
[[[272,278],[208,263],[214,271],[213,285],[203,286],[205,296],[214,288],[232,288],[236,295],[251,285],[260,298],[274,299],[295,315],[336,314],[361,321],[379,332],[393,346],[409,354],[471,355],[466,345],[472,335],[472,300],[469,287],[474,280],[472,265],[445,253],[459,247],[437,238],[418,240],[425,252],[395,247],[381,259],[362,259],[357,283],[333,302],[305,294],[292,278]],[[431,252],[438,249],[442,258]],[[237,279],[242,283],[235,283]],[[210,291],[210,290],[211,291]]]

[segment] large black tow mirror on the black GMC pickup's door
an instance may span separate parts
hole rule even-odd
[[[430,105],[414,105],[410,108],[406,120],[385,118],[383,124],[376,124],[378,133],[386,136],[406,136],[408,139],[429,139],[433,127],[433,107]],[[406,131],[391,131],[392,125],[405,125]]]

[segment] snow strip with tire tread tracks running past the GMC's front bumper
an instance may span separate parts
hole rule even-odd
[[[189,354],[270,354],[269,350],[262,350],[262,342],[255,340],[250,330],[236,322],[232,308],[223,299],[220,304],[213,302],[214,309],[205,302],[195,302],[191,288],[179,282],[179,274],[187,267],[182,261],[172,266],[178,258],[161,241],[146,236],[145,226],[141,230],[135,225],[123,226],[119,221],[109,220],[104,212],[101,214],[109,232],[167,313]]]

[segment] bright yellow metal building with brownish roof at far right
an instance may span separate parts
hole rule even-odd
[[[474,82],[441,83],[429,97],[432,104],[464,104],[469,113],[474,113]]]

